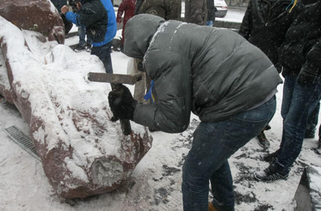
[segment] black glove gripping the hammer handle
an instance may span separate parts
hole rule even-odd
[[[137,101],[132,98],[129,89],[122,85],[117,84],[112,91],[108,94],[108,102],[114,116],[112,121],[120,119],[133,119],[134,110]]]

